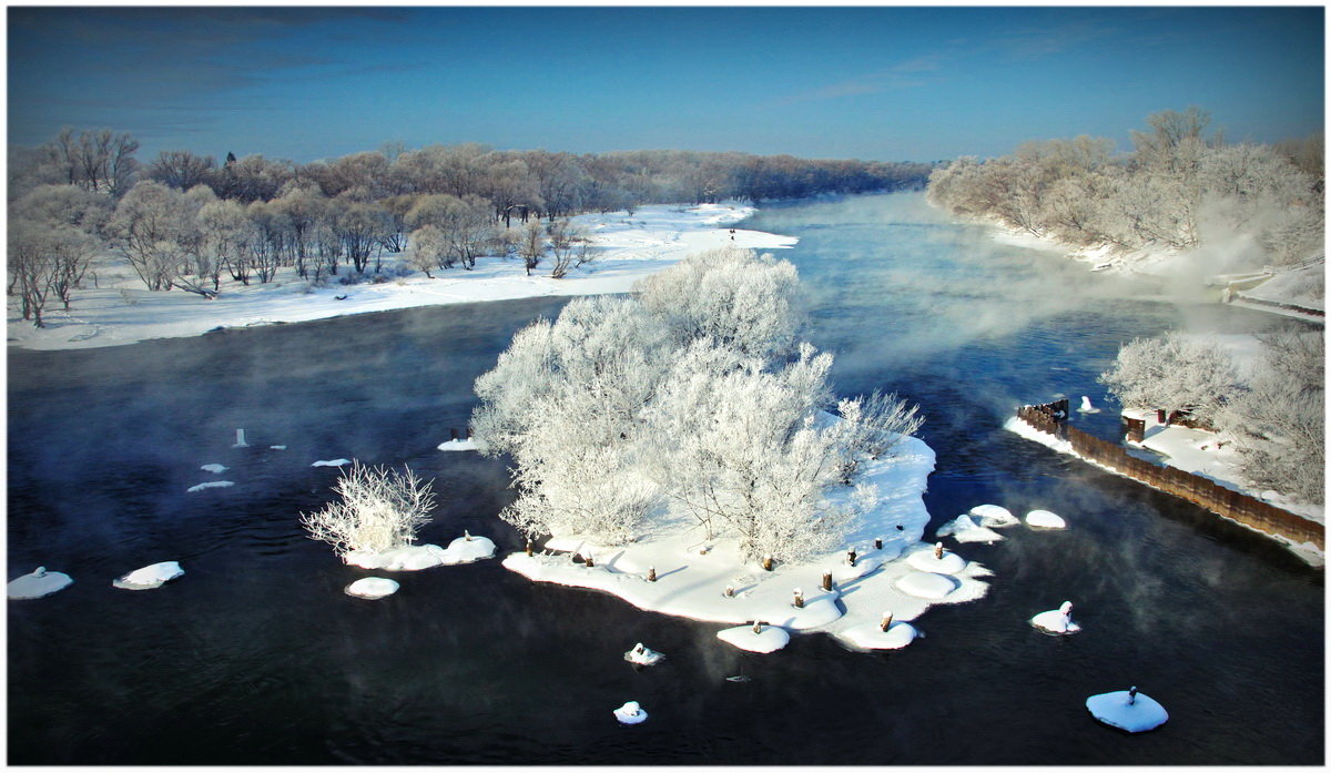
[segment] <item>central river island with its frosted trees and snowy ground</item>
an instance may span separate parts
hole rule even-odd
[[[531,543],[503,565],[744,624],[717,636],[755,652],[807,631],[897,648],[930,604],[982,596],[988,569],[920,541],[917,408],[833,398],[797,290],[785,261],[712,250],[519,331],[471,420],[514,460],[500,518]]]

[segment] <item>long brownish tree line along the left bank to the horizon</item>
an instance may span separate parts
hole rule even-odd
[[[313,283],[379,277],[385,253],[427,275],[480,255],[519,257],[564,275],[590,259],[567,218],[643,204],[767,201],[918,189],[929,164],[632,150],[495,150],[478,144],[353,153],[295,164],[252,154],[162,150],[106,129],[64,129],[9,149],[8,290],[41,326],[93,255],[118,250],[150,290],[212,298],[224,277],[249,285],[293,269]],[[542,224],[544,221],[544,224]],[[347,271],[349,269],[349,271]]]

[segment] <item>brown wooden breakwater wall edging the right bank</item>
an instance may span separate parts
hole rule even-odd
[[[1318,549],[1324,549],[1326,527],[1320,523],[1280,510],[1268,502],[1225,488],[1209,478],[1138,459],[1117,443],[1102,440],[1077,427],[1069,427],[1066,399],[1042,406],[1022,406],[1017,410],[1017,418],[1041,432],[1067,440],[1073,452],[1087,462],[1107,467],[1165,494],[1186,499],[1235,523],[1287,539],[1295,544],[1312,543]]]

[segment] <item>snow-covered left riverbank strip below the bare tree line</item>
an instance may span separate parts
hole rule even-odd
[[[795,245],[793,237],[743,229],[732,239],[728,226],[752,213],[751,206],[704,204],[644,206],[632,216],[619,212],[575,217],[574,222],[590,234],[596,257],[563,279],[550,278],[548,258],[531,277],[520,259],[487,257],[470,271],[457,266],[431,271],[433,279],[414,273],[378,285],[347,286],[334,279],[321,289],[310,287],[291,269],[282,269],[266,285],[246,287],[228,277],[221,294],[208,301],[181,290],[149,291],[122,258],[108,255],[93,267],[97,289],[76,290],[69,313],[52,303],[45,329],[20,319],[11,299],[9,343],[43,350],[89,349],[201,335],[217,327],[307,322],[413,306],[624,293],[642,277],[692,253],[732,245],[760,250]],[[386,273],[399,263],[401,255],[387,255]]]

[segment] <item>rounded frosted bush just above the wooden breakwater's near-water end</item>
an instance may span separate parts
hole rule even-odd
[[[1125,408],[1189,408],[1210,422],[1234,392],[1238,374],[1219,345],[1170,331],[1125,345],[1099,381]]]

